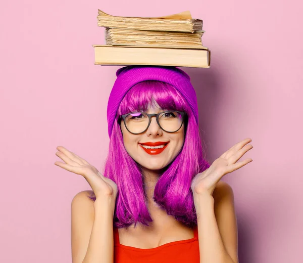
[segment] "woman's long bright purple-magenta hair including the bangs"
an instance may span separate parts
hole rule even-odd
[[[168,215],[188,227],[197,225],[193,203],[191,181],[194,176],[210,165],[204,159],[200,131],[186,100],[170,84],[146,80],[134,85],[123,98],[117,112],[110,139],[109,153],[105,162],[104,176],[113,180],[118,187],[114,227],[128,227],[134,223],[149,226],[152,218],[147,210],[146,195],[140,165],[124,148],[119,116],[133,111],[146,111],[157,102],[162,109],[184,111],[184,144],[175,157],[160,174],[155,186],[154,200]],[[95,196],[90,197],[95,200]]]

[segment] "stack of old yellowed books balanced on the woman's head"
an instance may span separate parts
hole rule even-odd
[[[202,45],[203,21],[190,12],[145,18],[118,17],[98,10],[106,45],[92,45],[95,65],[210,67],[210,50]]]

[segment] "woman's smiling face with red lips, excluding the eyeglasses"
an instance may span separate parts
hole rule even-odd
[[[157,107],[155,108],[149,107],[146,110],[146,113],[150,114],[164,111],[159,107],[158,104],[156,105]],[[121,130],[123,134],[124,146],[128,154],[141,166],[150,170],[162,169],[170,164],[178,155],[184,143],[184,122],[182,127],[175,133],[167,133],[159,127],[156,117],[151,117],[151,122],[148,129],[142,134],[134,135],[126,129],[122,120]],[[148,142],[163,142],[163,144],[168,144],[162,151],[148,149],[144,150],[143,146],[140,144]]]

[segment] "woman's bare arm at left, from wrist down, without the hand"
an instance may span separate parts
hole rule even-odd
[[[72,201],[72,262],[113,263],[113,216],[115,200],[110,197],[92,202],[85,191]]]

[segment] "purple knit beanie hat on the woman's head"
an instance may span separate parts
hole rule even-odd
[[[171,66],[126,66],[116,72],[117,79],[111,91],[108,107],[108,133],[111,138],[116,114],[121,101],[132,86],[144,80],[159,80],[171,84],[188,102],[198,122],[196,93],[190,83],[190,77],[181,69]]]

